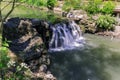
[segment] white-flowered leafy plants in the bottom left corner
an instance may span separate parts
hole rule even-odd
[[[32,72],[27,64],[17,63],[13,60],[9,60],[7,63],[8,71],[4,71],[5,75],[3,79],[9,80],[30,80]],[[11,69],[11,70],[9,70]],[[14,70],[14,71],[13,71]]]

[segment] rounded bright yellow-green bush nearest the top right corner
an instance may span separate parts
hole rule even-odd
[[[103,4],[102,13],[111,14],[113,13],[113,9],[115,8],[115,4],[112,1],[107,1]]]

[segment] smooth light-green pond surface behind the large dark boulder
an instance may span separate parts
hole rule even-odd
[[[2,4],[3,6],[5,3]],[[11,5],[7,6],[3,11],[2,14],[5,16],[7,12],[11,9]],[[56,18],[60,17],[60,15],[52,13],[54,16],[51,17],[51,13],[47,10],[40,10],[29,8],[25,6],[17,6],[14,11],[10,14],[10,17],[20,17],[20,18],[38,18],[38,19],[45,19],[49,21],[55,21]]]

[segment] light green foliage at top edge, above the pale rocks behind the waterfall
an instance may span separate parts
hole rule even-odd
[[[62,9],[69,11],[71,9],[79,9],[81,0],[65,0]]]

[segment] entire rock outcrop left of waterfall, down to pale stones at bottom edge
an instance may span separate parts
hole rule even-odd
[[[3,37],[9,44],[10,52],[28,64],[34,78],[55,80],[51,73],[47,73],[50,65],[47,54],[49,32],[49,24],[44,20],[11,18],[4,23]],[[44,76],[40,76],[41,73]]]

